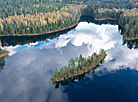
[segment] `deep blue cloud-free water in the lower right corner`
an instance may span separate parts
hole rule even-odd
[[[68,86],[70,102],[137,102],[138,72],[119,70],[115,73],[86,77]]]

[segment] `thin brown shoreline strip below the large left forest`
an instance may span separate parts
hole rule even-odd
[[[45,33],[18,34],[18,35],[16,35],[16,34],[12,34],[12,35],[0,35],[0,37],[10,37],[10,36],[37,36],[37,35],[51,34],[51,33],[56,33],[56,32],[59,32],[59,31],[63,31],[63,30],[67,30],[67,29],[73,28],[73,27],[77,26],[78,23],[79,22],[77,22],[76,24],[73,24],[73,25],[71,25],[69,27],[65,27],[65,28],[62,28],[62,29],[59,29],[59,30],[54,30],[54,31],[48,31],[48,32],[45,32]]]

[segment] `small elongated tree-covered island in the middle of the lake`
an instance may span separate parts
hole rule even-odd
[[[101,49],[99,54],[93,53],[92,56],[89,56],[88,58],[84,58],[82,55],[80,55],[79,58],[71,58],[68,66],[63,66],[60,69],[60,72],[55,68],[54,75],[51,75],[51,80],[53,82],[60,82],[84,74],[99,65],[106,56],[106,52]]]

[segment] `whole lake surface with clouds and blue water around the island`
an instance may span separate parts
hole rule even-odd
[[[138,102],[138,49],[123,44],[120,33],[118,25],[80,22],[52,40],[4,47],[10,53],[0,60],[0,102]],[[100,48],[108,54],[103,64],[55,88],[55,67]]]

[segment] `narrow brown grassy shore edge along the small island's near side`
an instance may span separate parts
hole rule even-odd
[[[85,71],[83,71],[83,72],[78,72],[77,74],[71,75],[71,76],[69,76],[68,78],[63,79],[63,80],[67,80],[67,79],[69,79],[69,78],[72,78],[72,77],[76,77],[76,76],[78,76],[78,75],[85,74],[85,73],[87,73],[88,71],[90,71],[90,70],[96,68],[96,67],[100,64],[100,62],[103,61],[103,60],[105,59],[106,56],[107,56],[107,54],[105,53],[105,55],[103,56],[103,58],[102,58],[101,60],[99,60],[99,61],[97,62],[97,64],[95,64],[92,68],[87,69],[87,70],[85,70]],[[63,81],[62,79],[61,79],[61,80],[53,80],[52,78],[51,78],[50,80],[53,81],[53,82],[61,82],[61,81]]]

